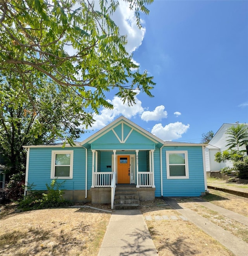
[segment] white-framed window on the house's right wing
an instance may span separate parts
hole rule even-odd
[[[188,152],[166,151],[167,179],[188,179]]]

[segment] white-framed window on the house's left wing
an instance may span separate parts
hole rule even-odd
[[[73,150],[52,150],[51,179],[72,179]]]

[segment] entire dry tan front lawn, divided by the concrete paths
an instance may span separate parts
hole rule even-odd
[[[248,199],[210,190],[205,200],[245,216]],[[248,228],[191,199],[180,202],[215,224],[248,242]],[[13,213],[13,207],[0,213],[0,255],[97,255],[111,214],[94,209],[44,209]],[[110,205],[91,205],[110,210]],[[2,207],[1,207],[2,208]],[[145,216],[180,216],[162,199],[141,202]],[[190,221],[146,221],[160,256],[233,256],[229,250]]]

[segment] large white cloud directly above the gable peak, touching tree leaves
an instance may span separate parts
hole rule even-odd
[[[94,114],[93,118],[96,121],[92,124],[91,129],[101,129],[112,122],[114,118],[119,115],[123,115],[126,118],[132,118],[137,114],[141,114],[144,111],[141,106],[141,101],[136,96],[134,98],[136,104],[133,106],[128,106],[127,102],[123,104],[121,98],[117,96],[115,96],[112,100],[108,100],[108,102],[111,103],[114,108],[112,110],[103,108],[103,110],[100,111],[100,115]]]

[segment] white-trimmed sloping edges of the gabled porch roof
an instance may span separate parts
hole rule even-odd
[[[134,122],[130,121],[129,119],[127,119],[124,116],[121,116],[121,117],[117,118],[112,123],[108,124],[107,126],[102,128],[101,130],[96,132],[95,134],[91,135],[89,138],[87,138],[84,141],[82,141],[81,145],[86,145],[86,144],[92,143],[93,141],[98,139],[100,136],[102,136],[103,134],[107,133],[108,131],[110,131],[111,129],[113,129],[117,125],[119,125],[121,122],[124,122],[125,124],[129,125],[135,131],[140,132],[141,134],[143,134],[147,138],[151,139],[154,143],[161,143],[162,145],[164,145],[164,141],[162,139],[160,139],[157,136],[153,135],[152,133],[146,131],[145,129],[143,129],[139,125],[135,124]]]

